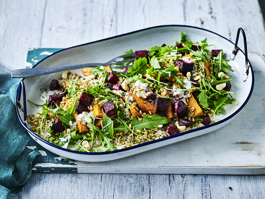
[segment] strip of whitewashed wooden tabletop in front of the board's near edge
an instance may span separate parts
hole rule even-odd
[[[33,174],[16,199],[263,198],[264,181],[264,175]]]

